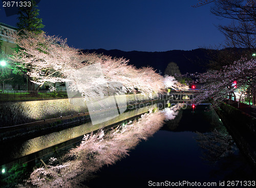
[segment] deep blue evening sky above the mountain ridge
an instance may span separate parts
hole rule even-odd
[[[212,15],[197,0],[41,0],[39,17],[49,35],[68,38],[79,49],[123,51],[193,50],[220,44],[215,25],[227,20]],[[0,21],[15,26],[17,15]]]

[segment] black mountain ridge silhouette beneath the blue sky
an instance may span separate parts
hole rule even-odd
[[[162,75],[169,62],[175,62],[179,66],[181,74],[186,74],[205,72],[210,61],[208,50],[206,49],[195,49],[190,51],[172,50],[166,52],[125,52],[121,50],[93,49],[81,50],[81,52],[104,54],[117,58],[123,57],[129,59],[129,64],[133,64],[137,68],[151,66],[156,69],[157,73],[159,73],[160,70]]]

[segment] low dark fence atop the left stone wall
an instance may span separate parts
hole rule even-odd
[[[47,100],[53,98],[67,98],[66,91],[50,91],[39,90],[36,91],[18,91],[18,90],[5,90],[0,92],[0,102],[8,101],[33,101],[33,100]]]

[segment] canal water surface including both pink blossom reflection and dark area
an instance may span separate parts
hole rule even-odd
[[[198,106],[195,113],[191,109],[178,109],[154,109],[154,113],[144,114],[139,120],[109,132],[86,135],[79,147],[55,161],[58,165],[34,171],[27,184],[131,187],[136,183],[145,187],[149,180],[255,179],[255,171],[214,110],[205,111],[205,106]],[[140,142],[145,139],[146,142]],[[130,156],[124,158],[127,155]],[[107,167],[113,163],[116,165]]]

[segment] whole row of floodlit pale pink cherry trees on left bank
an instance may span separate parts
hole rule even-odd
[[[27,70],[27,75],[32,78],[31,82],[38,84],[36,91],[46,82],[49,84],[65,81],[69,81],[69,87],[79,91],[83,97],[94,96],[95,93],[91,91],[99,89],[102,80],[121,83],[124,92],[139,91],[150,95],[163,92],[166,87],[180,87],[173,77],[163,78],[152,67],[138,69],[128,65],[129,60],[124,58],[82,54],[68,46],[66,39],[48,36],[44,32],[23,31],[23,35],[13,35],[20,49],[10,59],[16,67]],[[102,77],[94,76],[99,73],[96,66],[92,66],[94,69],[87,68],[96,64],[100,66]],[[86,79],[88,80],[84,81]],[[92,86],[95,89],[88,89]]]

